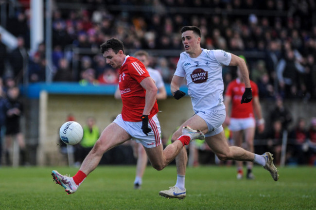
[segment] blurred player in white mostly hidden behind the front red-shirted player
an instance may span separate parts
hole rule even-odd
[[[143,63],[149,75],[155,81],[156,87],[158,88],[157,100],[166,99],[167,92],[166,92],[165,84],[163,82],[160,72],[158,70],[155,70],[149,67],[149,63],[150,63],[149,54],[146,51],[140,50],[134,53],[134,57],[136,57],[137,59],[140,60],[140,62]],[[114,96],[116,99],[121,99],[119,88],[116,90]],[[132,144],[133,144],[134,155],[135,157],[137,157],[136,177],[134,180],[134,188],[140,189],[140,186],[142,184],[142,176],[144,175],[144,172],[147,166],[148,157],[146,155],[146,151],[144,147],[140,143],[136,143],[135,141],[133,141]]]

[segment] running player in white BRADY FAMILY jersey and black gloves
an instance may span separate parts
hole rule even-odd
[[[205,141],[219,159],[253,161],[267,169],[273,179],[277,181],[279,175],[270,153],[264,153],[261,156],[241,147],[229,147],[222,127],[226,115],[223,103],[222,65],[240,68],[246,85],[241,103],[249,103],[252,99],[250,80],[244,59],[223,50],[202,49],[200,45],[201,30],[196,26],[183,27],[181,37],[185,52],[180,54],[176,72],[171,81],[171,91],[176,99],[183,97],[185,93],[179,88],[183,79],[186,78],[188,94],[191,97],[195,112],[182,125],[189,125],[193,129],[199,128],[205,134]],[[180,135],[181,129],[178,129],[172,139],[176,140]],[[184,181],[187,160],[186,150],[182,148],[176,157],[176,185],[170,187],[169,190],[160,191],[161,196],[169,198],[184,198],[186,196]]]

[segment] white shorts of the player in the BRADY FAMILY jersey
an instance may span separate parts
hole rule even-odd
[[[217,106],[195,114],[200,116],[208,125],[209,132],[205,134],[205,137],[215,136],[224,130],[222,124],[226,117],[225,106]]]

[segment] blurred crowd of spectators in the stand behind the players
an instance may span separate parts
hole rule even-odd
[[[196,25],[202,30],[203,48],[245,55],[261,99],[315,100],[315,11],[314,0],[55,0],[50,73],[59,82],[117,84],[117,70],[99,53],[100,44],[116,37],[124,42],[127,54],[148,51],[152,55],[149,66],[170,83],[183,51],[179,31],[182,26]],[[11,64],[10,70],[0,71],[3,78],[21,81],[25,76],[30,83],[46,79],[45,44],[29,52],[29,18],[26,5],[8,20],[7,30],[20,44],[12,52],[0,45],[0,68],[5,58]],[[26,52],[28,69],[21,72],[23,66],[17,65],[23,63]],[[224,84],[235,75],[234,68],[224,67]],[[277,120],[273,125],[271,131],[278,129]]]

